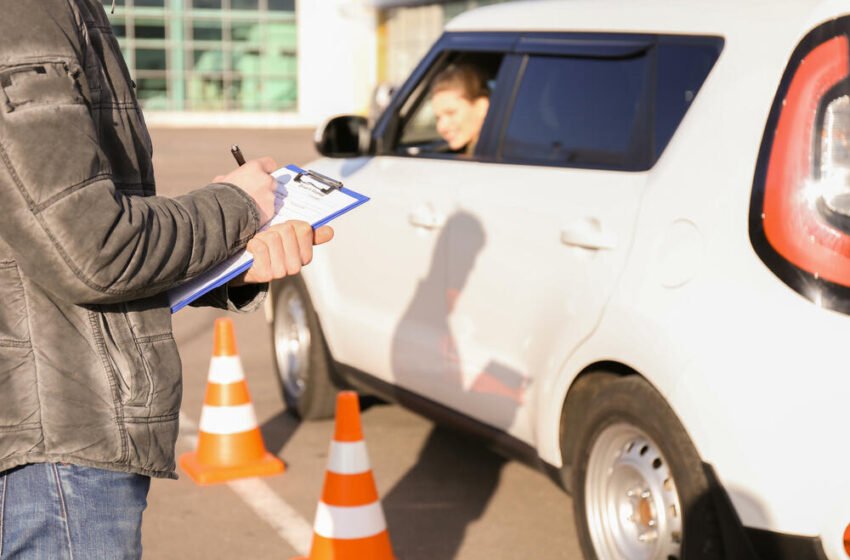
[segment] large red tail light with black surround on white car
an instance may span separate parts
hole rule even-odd
[[[786,284],[850,313],[847,22],[819,27],[792,56],[759,155],[750,238]]]

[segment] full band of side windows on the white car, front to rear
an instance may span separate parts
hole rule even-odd
[[[723,39],[710,36],[516,37],[501,51],[440,50],[401,100],[383,149],[417,157],[647,170],[670,143],[723,50]],[[441,109],[435,112],[435,82],[458,65],[480,70],[494,104],[488,106],[481,144],[451,145],[440,126]]]

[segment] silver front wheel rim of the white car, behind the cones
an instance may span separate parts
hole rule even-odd
[[[298,400],[307,382],[310,326],[304,300],[292,286],[284,286],[275,303],[274,347],[283,388]]]

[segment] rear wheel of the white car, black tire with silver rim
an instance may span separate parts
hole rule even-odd
[[[587,560],[720,560],[709,481],[685,429],[637,375],[587,393],[569,426],[573,507]]]

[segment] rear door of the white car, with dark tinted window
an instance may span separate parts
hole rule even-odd
[[[485,147],[503,163],[471,170],[458,194],[448,368],[464,390],[447,404],[525,441],[536,385],[593,332],[629,254],[652,151],[650,47],[524,39]]]

